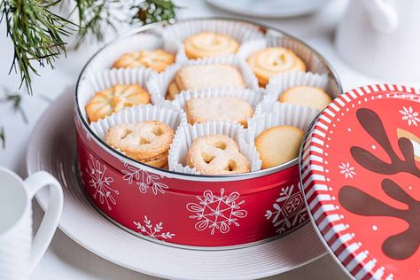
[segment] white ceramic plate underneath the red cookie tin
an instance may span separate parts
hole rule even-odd
[[[27,150],[27,172],[46,170],[64,189],[59,228],[89,251],[152,276],[183,279],[255,279],[298,268],[326,251],[312,225],[261,245],[199,251],[159,245],[113,225],[84,197],[76,169],[74,92],[65,92],[35,126]],[[48,191],[36,198],[45,209]]]

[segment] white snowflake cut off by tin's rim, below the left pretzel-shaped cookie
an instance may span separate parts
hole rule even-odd
[[[169,189],[167,184],[160,183],[159,180],[162,179],[163,175],[156,175],[145,171],[144,169],[132,167],[124,160],[121,160],[126,169],[122,169],[121,173],[123,174],[122,179],[127,181],[128,184],[136,182],[138,186],[138,191],[141,193],[146,193],[149,190],[149,187],[152,187],[152,192],[154,195],[157,195],[159,192],[164,194],[165,190]]]

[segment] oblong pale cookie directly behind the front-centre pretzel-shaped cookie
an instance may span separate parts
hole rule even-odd
[[[237,97],[199,97],[185,103],[184,111],[190,124],[205,121],[237,121],[245,128],[253,107]]]

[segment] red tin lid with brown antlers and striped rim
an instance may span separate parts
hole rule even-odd
[[[356,279],[420,279],[420,95],[375,85],[337,97],[300,152],[316,231]]]

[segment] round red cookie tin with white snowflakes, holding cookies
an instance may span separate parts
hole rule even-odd
[[[272,27],[237,22],[251,24],[263,33],[274,30],[299,43],[300,48],[313,54],[311,63],[322,66],[340,91],[337,74],[307,44]],[[131,34],[157,26],[161,24],[141,27]],[[79,82],[85,72],[86,66]],[[281,237],[308,221],[299,189],[298,159],[229,176],[185,175],[149,167],[96,136],[83,117],[79,99],[76,89],[74,118],[84,190],[92,204],[121,228],[169,245],[211,249]]]

